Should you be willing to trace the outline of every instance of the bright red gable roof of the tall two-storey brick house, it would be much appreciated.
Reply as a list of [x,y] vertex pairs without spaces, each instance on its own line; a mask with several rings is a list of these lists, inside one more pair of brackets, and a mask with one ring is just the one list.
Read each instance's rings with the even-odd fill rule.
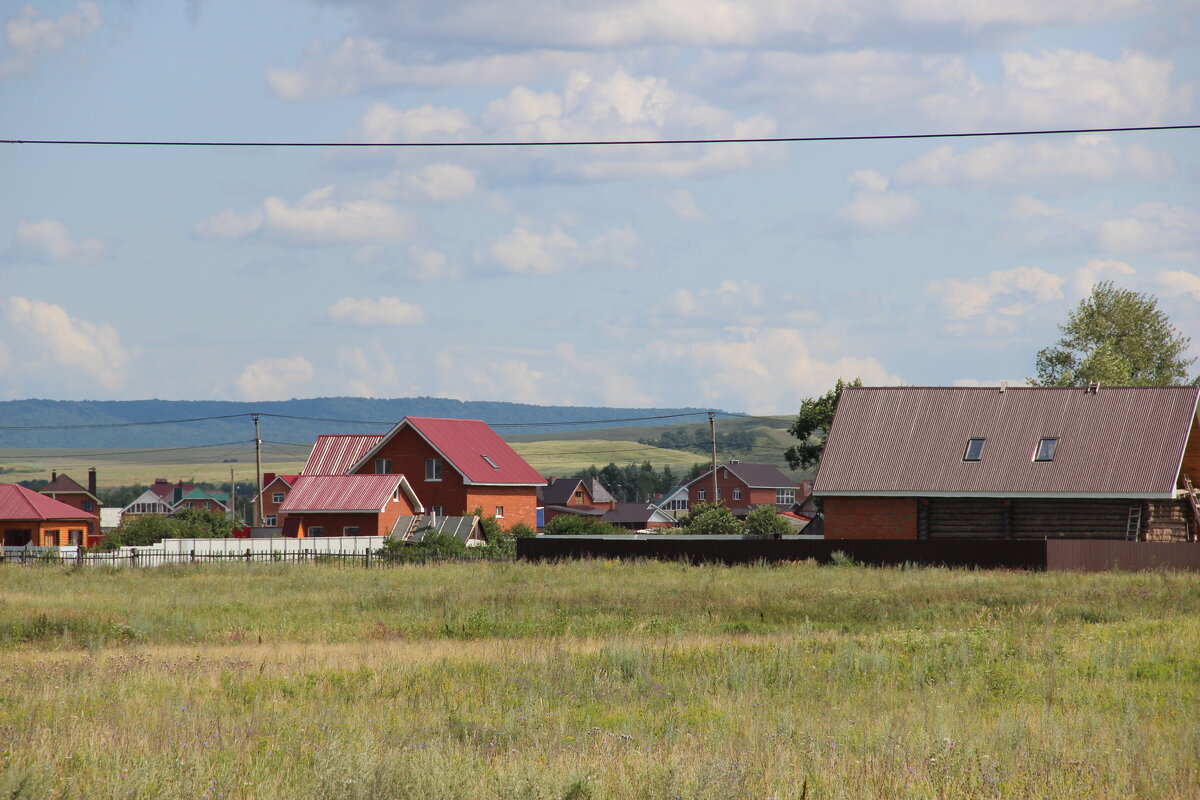
[[433,447],[455,468],[467,485],[545,486],[541,476],[517,455],[491,426],[481,420],[444,420],[432,416],[406,416],[378,444],[364,453],[347,471],[354,471],[406,427]]

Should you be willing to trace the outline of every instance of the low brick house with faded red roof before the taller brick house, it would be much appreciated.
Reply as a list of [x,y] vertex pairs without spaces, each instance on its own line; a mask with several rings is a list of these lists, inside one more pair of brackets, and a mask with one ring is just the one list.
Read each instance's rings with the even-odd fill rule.
[[301,475],[280,504],[283,535],[386,536],[425,509],[403,475]]

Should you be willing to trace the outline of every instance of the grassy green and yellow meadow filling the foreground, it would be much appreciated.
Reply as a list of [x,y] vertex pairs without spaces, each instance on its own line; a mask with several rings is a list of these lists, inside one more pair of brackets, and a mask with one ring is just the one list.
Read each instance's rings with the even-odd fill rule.
[[0,796],[1200,795],[1200,576],[0,566]]

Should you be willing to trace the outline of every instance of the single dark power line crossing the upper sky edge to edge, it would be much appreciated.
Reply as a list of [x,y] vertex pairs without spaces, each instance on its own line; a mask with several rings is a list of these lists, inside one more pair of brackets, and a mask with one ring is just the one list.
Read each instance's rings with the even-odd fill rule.
[[136,139],[0,139],[0,144],[98,145],[119,148],[594,148],[662,144],[787,144],[805,142],[886,142],[893,139],[965,139],[972,137],[1062,136],[1193,131],[1200,125],[1139,125],[1108,128],[964,131],[958,133],[872,133],[857,136],[736,137],[722,139],[572,139],[558,142],[188,142]]

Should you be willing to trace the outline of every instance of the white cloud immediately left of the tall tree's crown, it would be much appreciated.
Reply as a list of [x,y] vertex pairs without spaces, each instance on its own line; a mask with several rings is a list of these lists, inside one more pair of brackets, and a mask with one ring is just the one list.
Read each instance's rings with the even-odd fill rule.
[[[1036,266],[997,270],[980,278],[931,281],[928,294],[952,320],[982,317],[984,332],[1016,330],[1032,308],[1061,300],[1066,279]],[[978,332],[978,324],[952,324],[954,332]]]

